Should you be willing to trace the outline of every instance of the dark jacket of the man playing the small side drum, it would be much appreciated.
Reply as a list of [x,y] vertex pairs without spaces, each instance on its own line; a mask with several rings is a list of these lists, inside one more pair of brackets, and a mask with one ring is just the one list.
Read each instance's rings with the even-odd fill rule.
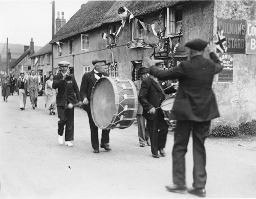
[[[159,84],[162,86],[162,82],[159,82]],[[163,86],[162,88],[164,89]],[[173,92],[176,92],[176,90],[174,88],[170,88],[165,91],[165,94],[170,94]],[[148,113],[148,111],[153,107],[160,107],[161,103],[165,99],[165,94],[163,91],[161,91],[156,81],[151,77],[147,77],[145,80],[143,80],[138,96],[139,102],[143,107],[142,116],[146,119],[153,120],[157,115],[157,111],[161,111],[161,109],[156,109],[154,114]]]

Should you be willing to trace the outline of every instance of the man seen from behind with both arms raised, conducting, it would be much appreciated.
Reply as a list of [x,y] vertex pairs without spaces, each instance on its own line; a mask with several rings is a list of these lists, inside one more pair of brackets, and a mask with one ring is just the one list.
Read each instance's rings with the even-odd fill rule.
[[[206,153],[204,141],[208,134],[211,119],[219,117],[215,94],[211,89],[214,75],[222,70],[218,57],[213,53],[212,45],[201,39],[185,44],[188,60],[177,67],[161,71],[154,62],[149,61],[150,74],[160,80],[179,80],[179,89],[171,112],[171,119],[177,120],[173,146],[173,183],[166,186],[171,192],[187,191],[185,181],[185,154],[189,134],[193,136],[193,188],[188,192],[205,197]],[[207,48],[206,48],[207,47]],[[204,49],[210,52],[210,59],[203,57]]]

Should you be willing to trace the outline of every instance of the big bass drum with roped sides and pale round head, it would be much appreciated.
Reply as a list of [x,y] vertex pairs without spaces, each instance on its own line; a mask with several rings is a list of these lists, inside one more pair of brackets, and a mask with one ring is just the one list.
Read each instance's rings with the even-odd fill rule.
[[138,110],[134,83],[126,78],[100,78],[91,94],[91,112],[101,129],[125,129],[134,122]]

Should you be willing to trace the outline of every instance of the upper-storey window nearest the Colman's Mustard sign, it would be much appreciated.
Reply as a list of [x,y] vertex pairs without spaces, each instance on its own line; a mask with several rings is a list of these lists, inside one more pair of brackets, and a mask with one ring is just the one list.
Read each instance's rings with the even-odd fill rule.
[[[183,21],[183,15],[182,15],[182,20],[180,21],[177,21],[177,12],[178,10],[183,10],[182,6],[179,6],[179,7],[176,7],[176,8],[166,8],[166,12],[165,12],[165,16],[164,16],[164,26],[166,28],[166,31],[165,31],[165,35],[168,35],[170,37],[172,36],[175,36],[177,34],[180,33],[180,28],[182,27],[182,21]],[[173,17],[174,19],[172,20],[174,22],[174,30],[172,30],[170,27],[170,12],[173,11]],[[180,27],[180,28],[179,28]],[[179,30],[178,30],[179,29]],[[182,34],[182,32],[181,32]]]

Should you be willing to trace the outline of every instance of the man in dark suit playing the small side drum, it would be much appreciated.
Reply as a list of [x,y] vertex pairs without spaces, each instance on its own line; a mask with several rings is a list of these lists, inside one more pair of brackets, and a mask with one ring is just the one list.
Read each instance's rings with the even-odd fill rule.
[[[155,60],[153,62],[159,70],[163,70],[163,60]],[[159,82],[156,77],[149,76],[142,81],[138,97],[143,107],[142,116],[147,120],[151,152],[154,158],[159,158],[158,151],[160,151],[161,156],[165,156],[163,148],[165,147],[168,133],[168,125],[164,120],[164,114],[161,109],[156,109],[161,106],[165,99],[162,85],[164,85],[164,82]],[[170,87],[165,92],[170,94],[176,92],[176,90]]]

